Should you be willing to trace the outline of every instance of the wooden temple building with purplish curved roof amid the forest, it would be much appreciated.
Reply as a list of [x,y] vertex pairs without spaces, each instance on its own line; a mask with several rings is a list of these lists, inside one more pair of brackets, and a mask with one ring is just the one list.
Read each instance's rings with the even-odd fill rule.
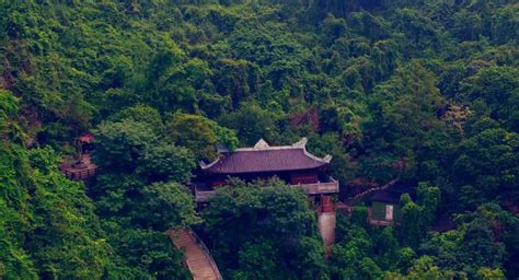
[[331,212],[332,195],[339,191],[338,182],[327,173],[332,156],[318,158],[305,147],[305,138],[280,147],[270,147],[261,139],[253,148],[224,152],[209,164],[200,163],[195,200],[198,205],[208,202],[229,177],[245,182],[278,177],[291,187],[302,188],[320,212]]

